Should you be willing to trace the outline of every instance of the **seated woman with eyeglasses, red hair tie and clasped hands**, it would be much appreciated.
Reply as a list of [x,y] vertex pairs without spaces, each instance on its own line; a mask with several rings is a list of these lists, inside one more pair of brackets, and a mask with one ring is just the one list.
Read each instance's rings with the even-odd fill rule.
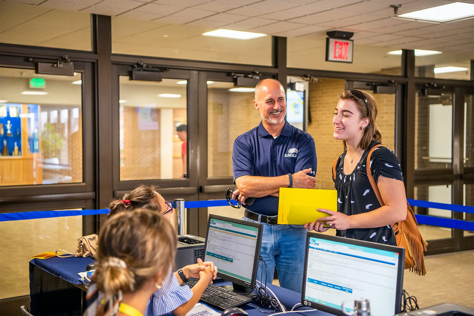
[[[121,199],[112,200],[109,206],[109,217],[135,208],[148,208],[160,213],[168,221],[171,220],[173,208],[156,189],[154,185],[140,185]],[[210,275],[206,273],[207,267],[210,267]],[[201,259],[198,259],[198,263],[187,265],[174,273],[170,270],[163,287],[156,290],[148,301],[145,315],[155,316],[170,312],[173,315],[186,314],[199,301],[208,284],[216,279],[217,271],[213,262],[202,262]],[[192,289],[188,286],[180,286],[191,277],[200,279]]]

